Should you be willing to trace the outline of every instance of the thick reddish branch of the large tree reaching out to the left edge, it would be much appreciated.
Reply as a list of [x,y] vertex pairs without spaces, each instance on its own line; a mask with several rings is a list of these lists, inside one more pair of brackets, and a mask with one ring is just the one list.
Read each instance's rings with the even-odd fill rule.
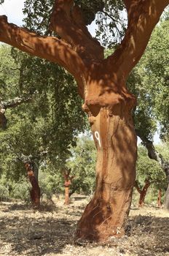
[[62,65],[68,70],[83,91],[82,60],[66,42],[56,37],[42,37],[26,29],[7,22],[6,16],[0,16],[0,41],[19,50]]

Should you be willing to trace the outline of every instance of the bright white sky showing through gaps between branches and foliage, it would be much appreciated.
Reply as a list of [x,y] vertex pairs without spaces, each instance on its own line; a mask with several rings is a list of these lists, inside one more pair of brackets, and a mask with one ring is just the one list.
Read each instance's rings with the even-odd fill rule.
[[[17,26],[22,26],[23,20],[23,4],[24,0],[5,0],[4,4],[0,5],[0,15],[6,15],[9,23],[14,23]],[[90,28],[91,34],[94,34],[95,26],[92,25]],[[138,143],[141,143],[141,140],[138,139]],[[160,138],[158,132],[154,135],[154,143],[160,143]]]

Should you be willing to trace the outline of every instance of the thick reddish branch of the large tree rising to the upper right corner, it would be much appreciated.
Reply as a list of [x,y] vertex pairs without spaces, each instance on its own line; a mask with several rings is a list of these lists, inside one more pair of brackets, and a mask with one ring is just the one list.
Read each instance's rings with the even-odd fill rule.
[[125,38],[112,56],[108,58],[111,67],[119,67],[119,75],[126,80],[146,49],[154,26],[169,0],[124,0],[128,14]]

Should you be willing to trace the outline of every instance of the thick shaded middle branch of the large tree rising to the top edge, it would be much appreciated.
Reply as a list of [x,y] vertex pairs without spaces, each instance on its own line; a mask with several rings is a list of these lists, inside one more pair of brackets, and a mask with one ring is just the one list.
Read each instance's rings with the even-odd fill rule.
[[55,1],[50,28],[70,43],[83,60],[103,59],[103,47],[91,36],[73,0]]

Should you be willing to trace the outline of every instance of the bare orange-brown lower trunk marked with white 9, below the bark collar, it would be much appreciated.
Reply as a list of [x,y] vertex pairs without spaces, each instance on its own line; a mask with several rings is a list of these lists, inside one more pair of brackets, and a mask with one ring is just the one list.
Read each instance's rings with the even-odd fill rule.
[[127,106],[101,108],[98,116],[89,119],[98,150],[96,189],[76,236],[104,241],[124,234],[135,182],[136,136]]

